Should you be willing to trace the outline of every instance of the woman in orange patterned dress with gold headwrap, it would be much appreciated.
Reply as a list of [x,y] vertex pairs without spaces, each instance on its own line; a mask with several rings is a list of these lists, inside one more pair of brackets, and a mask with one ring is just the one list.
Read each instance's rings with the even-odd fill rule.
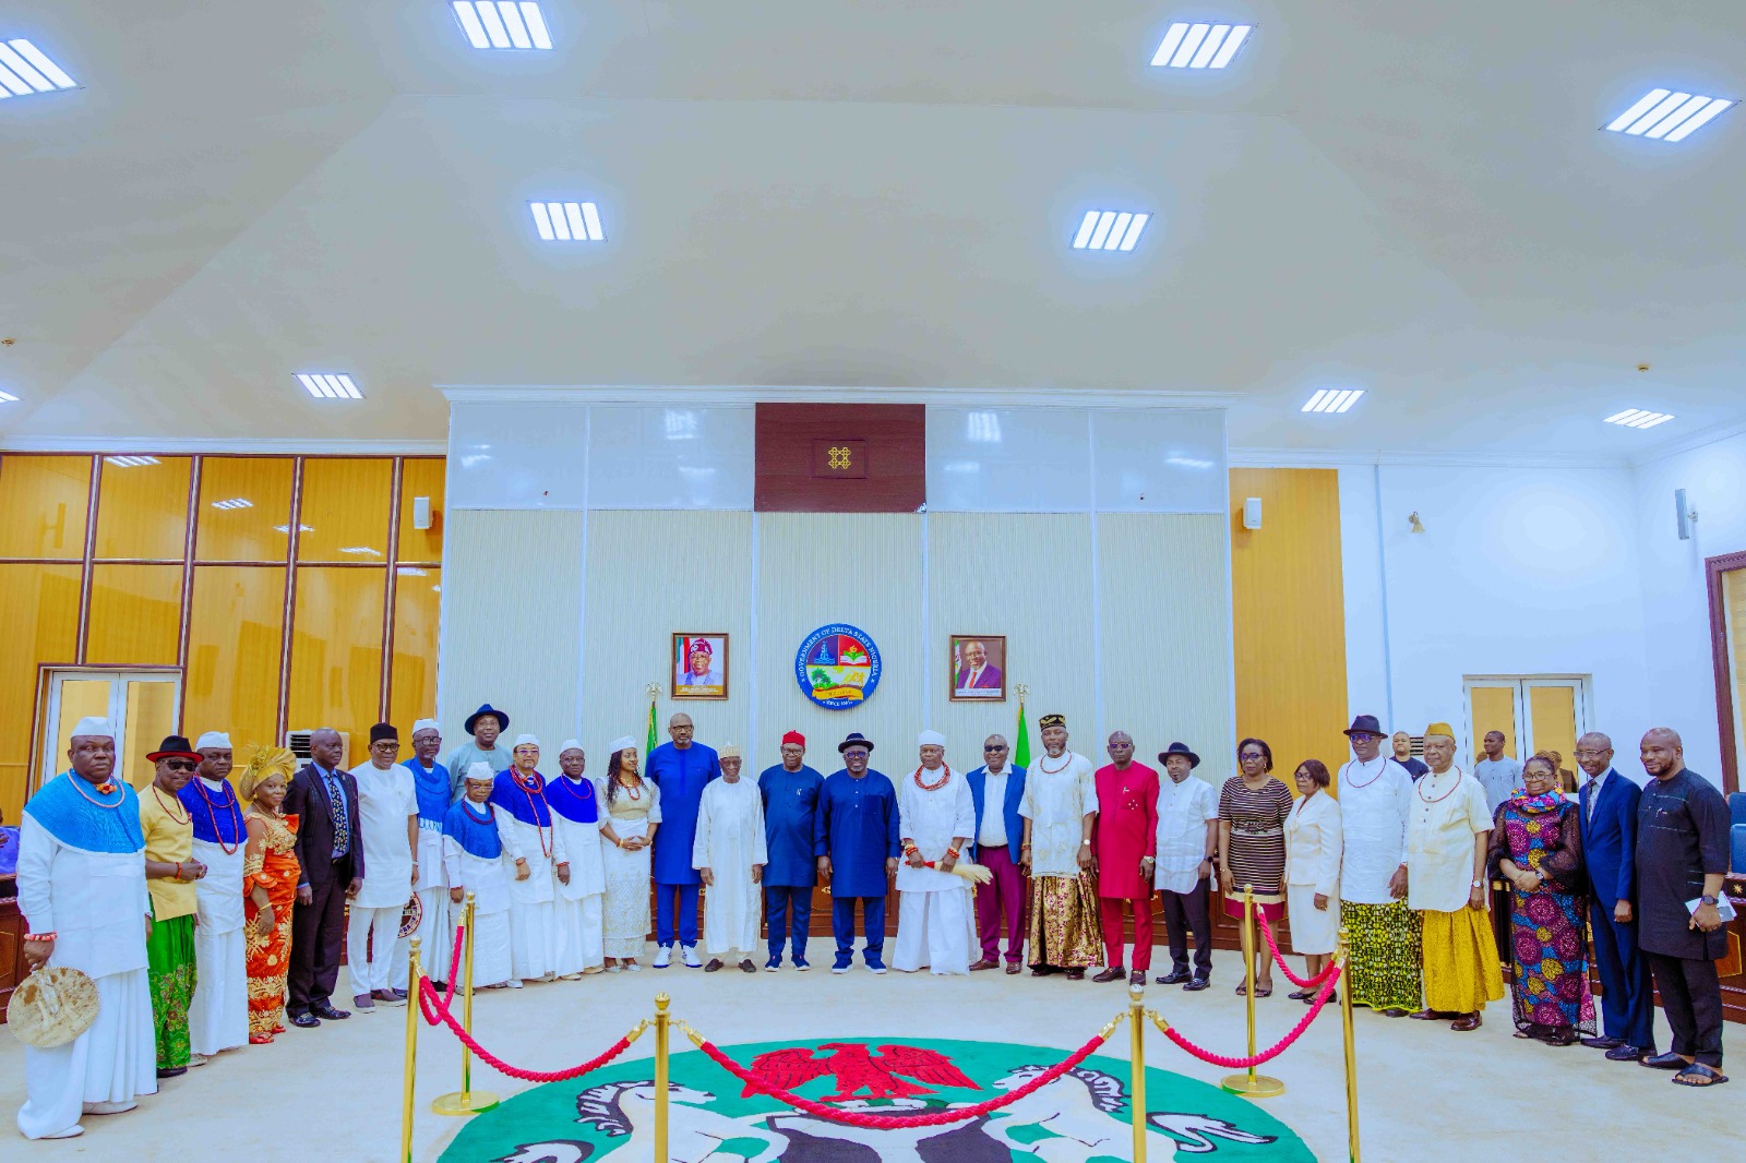
[[264,1046],[285,1032],[285,974],[292,967],[292,905],[297,901],[297,817],[281,807],[297,758],[258,747],[243,772],[243,939],[248,959],[248,1041]]

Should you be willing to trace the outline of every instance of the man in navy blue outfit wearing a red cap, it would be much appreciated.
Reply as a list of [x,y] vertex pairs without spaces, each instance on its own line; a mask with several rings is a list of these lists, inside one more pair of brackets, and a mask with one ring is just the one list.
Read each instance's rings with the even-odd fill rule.
[[[789,926],[794,936],[794,969],[805,973],[807,929],[812,926],[812,887],[819,882],[817,817],[824,775],[807,767],[807,737],[782,735],[782,761],[758,777],[765,802],[765,920],[770,926],[770,960],[765,973],[782,967]],[[789,922],[793,917],[793,922]]]

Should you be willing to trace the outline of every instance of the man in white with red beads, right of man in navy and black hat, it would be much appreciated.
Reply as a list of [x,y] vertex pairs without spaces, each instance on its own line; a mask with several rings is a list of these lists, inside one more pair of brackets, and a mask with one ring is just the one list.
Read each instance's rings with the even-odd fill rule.
[[[946,737],[917,737],[920,767],[897,781],[897,952],[892,967],[915,973],[971,971],[976,948],[976,905],[969,880],[955,877],[964,847],[976,835],[976,800],[962,774],[946,767]],[[932,868],[929,868],[932,864]]]

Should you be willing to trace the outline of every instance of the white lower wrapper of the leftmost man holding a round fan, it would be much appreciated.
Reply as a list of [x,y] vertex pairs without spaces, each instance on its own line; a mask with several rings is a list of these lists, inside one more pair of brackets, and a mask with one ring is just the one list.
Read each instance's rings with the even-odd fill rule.
[[152,985],[145,969],[96,978],[98,1020],[49,1049],[24,1048],[24,1105],[17,1128],[42,1139],[79,1126],[89,1102],[131,1102],[157,1093]]

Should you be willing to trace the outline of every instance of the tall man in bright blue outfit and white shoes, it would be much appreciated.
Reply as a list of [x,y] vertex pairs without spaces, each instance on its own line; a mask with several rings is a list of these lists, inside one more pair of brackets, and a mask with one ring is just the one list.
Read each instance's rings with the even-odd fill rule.
[[663,742],[650,753],[643,775],[660,788],[662,826],[655,833],[655,967],[672,964],[674,898],[679,899],[677,938],[679,952],[688,969],[702,969],[697,959],[697,870],[691,868],[691,845],[697,840],[697,805],[704,798],[704,784],[721,775],[721,760],[711,747],[695,742],[691,716],[679,712],[667,719]]

